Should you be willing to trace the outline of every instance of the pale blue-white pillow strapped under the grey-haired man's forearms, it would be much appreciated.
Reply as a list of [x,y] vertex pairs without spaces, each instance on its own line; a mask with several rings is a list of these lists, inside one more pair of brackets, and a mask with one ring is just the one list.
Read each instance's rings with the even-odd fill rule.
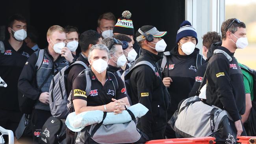
[[[141,103],[137,103],[128,107],[128,109],[134,114],[135,118],[141,118],[144,116],[148,109]],[[70,113],[67,116],[65,124],[67,127],[74,132],[81,131],[84,127],[91,124],[100,123],[103,119],[103,111],[87,111],[76,115],[75,112]],[[103,121],[104,125],[108,124],[119,124],[130,122],[132,117],[128,111],[123,111],[120,114],[107,113],[106,118]]]

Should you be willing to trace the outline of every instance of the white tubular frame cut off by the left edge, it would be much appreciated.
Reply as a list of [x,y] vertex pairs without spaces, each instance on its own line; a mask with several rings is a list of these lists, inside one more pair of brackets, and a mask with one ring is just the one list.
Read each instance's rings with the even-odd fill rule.
[[[7,84],[4,82],[4,80],[0,77],[0,87],[7,87]],[[14,137],[13,137],[13,131],[4,129],[4,127],[0,126],[0,144],[4,144],[4,138],[3,135],[8,135],[9,136],[9,144],[14,144]]]

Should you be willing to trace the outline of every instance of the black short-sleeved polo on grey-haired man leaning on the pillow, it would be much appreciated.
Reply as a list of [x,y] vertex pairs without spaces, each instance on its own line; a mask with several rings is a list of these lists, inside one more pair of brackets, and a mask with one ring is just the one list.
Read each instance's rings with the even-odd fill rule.
[[105,105],[110,102],[113,102],[111,98],[117,100],[126,97],[126,90],[124,88],[124,83],[121,78],[117,78],[118,89],[115,92],[112,81],[115,81],[112,77],[109,76],[108,72],[106,73],[106,83],[104,86],[98,81],[95,74],[92,70],[89,70],[89,75],[91,78],[91,91],[89,94],[86,94],[86,79],[85,73],[79,75],[74,80],[72,86],[72,100],[82,99],[87,101],[87,106],[99,106]]

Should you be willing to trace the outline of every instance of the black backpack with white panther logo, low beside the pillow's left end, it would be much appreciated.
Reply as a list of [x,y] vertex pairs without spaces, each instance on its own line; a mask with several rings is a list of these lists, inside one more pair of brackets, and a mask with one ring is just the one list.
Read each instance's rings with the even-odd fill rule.
[[40,144],[59,144],[66,138],[65,122],[51,116],[46,120],[39,135]]

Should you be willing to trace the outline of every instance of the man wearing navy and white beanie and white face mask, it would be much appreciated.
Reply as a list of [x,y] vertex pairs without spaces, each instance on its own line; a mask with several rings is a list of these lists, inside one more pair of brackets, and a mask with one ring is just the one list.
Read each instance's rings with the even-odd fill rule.
[[[176,46],[170,52],[164,52],[161,62],[163,84],[171,96],[172,106],[168,112],[168,120],[178,108],[181,100],[188,98],[195,83],[197,68],[204,63],[197,44],[197,32],[187,20],[180,24],[176,35]],[[168,125],[165,132],[167,138],[176,138],[173,129]]]

